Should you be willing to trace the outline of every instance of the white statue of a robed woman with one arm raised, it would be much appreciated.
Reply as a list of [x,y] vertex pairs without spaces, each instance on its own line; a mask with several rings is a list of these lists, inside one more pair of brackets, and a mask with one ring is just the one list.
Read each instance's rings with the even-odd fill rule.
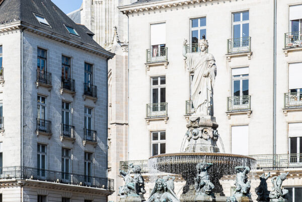
[[187,68],[190,73],[194,73],[191,95],[195,111],[192,117],[195,115],[213,116],[213,88],[217,74],[215,58],[206,52],[208,42],[204,36],[198,41],[200,52],[187,53],[187,40],[184,41],[183,45],[183,55],[186,57]]

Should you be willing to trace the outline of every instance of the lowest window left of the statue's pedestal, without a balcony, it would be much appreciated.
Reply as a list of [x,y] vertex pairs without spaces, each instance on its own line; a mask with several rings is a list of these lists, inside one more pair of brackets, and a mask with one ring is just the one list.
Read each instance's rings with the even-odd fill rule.
[[152,156],[166,153],[166,131],[151,133]]

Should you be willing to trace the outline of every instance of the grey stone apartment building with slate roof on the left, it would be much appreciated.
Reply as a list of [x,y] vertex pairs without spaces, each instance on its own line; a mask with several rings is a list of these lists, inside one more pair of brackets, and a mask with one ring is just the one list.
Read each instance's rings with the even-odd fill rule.
[[107,201],[114,54],[50,0],[2,0],[0,19],[0,198]]

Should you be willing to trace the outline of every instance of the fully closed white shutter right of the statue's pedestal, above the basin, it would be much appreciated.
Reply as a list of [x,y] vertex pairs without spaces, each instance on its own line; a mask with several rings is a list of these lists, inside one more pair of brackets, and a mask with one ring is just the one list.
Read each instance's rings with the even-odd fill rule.
[[249,155],[249,125],[232,126],[232,154]]

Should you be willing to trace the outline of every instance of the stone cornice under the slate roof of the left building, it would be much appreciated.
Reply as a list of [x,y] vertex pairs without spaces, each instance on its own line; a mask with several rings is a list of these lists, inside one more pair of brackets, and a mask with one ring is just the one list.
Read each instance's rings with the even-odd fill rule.
[[111,53],[109,51],[102,50],[100,48],[96,48],[92,45],[85,44],[83,42],[79,42],[77,40],[73,40],[73,39],[61,36],[59,34],[50,32],[48,30],[44,30],[44,29],[41,29],[39,27],[30,25],[27,23],[23,23],[21,21],[7,23],[7,24],[0,24],[0,34],[5,33],[5,32],[14,31],[14,30],[22,30],[22,29],[27,32],[33,33],[35,35],[39,35],[39,36],[45,37],[47,39],[51,39],[51,40],[63,43],[65,45],[69,45],[74,48],[84,50],[86,52],[104,57],[106,59],[111,59],[115,55],[114,53]]

